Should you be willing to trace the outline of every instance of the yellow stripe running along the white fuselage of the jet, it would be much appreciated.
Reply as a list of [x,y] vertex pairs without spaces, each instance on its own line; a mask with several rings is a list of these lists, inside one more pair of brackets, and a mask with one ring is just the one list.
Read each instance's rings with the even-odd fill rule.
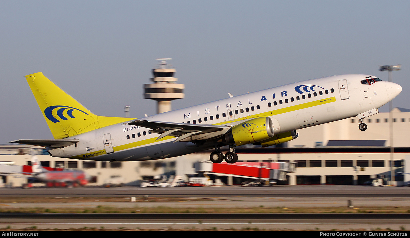
[[[240,117],[240,118],[232,120],[232,121],[223,121],[223,122],[220,122],[220,123],[217,123],[217,124],[214,124],[214,125],[228,124],[229,122],[242,121],[242,120],[257,118],[257,117],[270,117],[270,116],[273,116],[273,115],[278,115],[278,114],[282,114],[282,113],[286,113],[286,112],[293,112],[293,111],[301,110],[301,109],[305,109],[305,108],[311,108],[311,107],[326,104],[326,103],[333,103],[335,101],[336,101],[335,97],[324,98],[324,99],[320,99],[320,100],[316,100],[316,101],[312,101],[312,102],[308,102],[308,103],[301,103],[301,104],[298,104],[298,105],[289,106],[289,107],[286,107],[286,108],[280,108],[280,109],[277,109],[277,110],[262,112],[262,113],[255,114],[255,115],[248,116],[248,117]],[[146,139],[146,140],[139,140],[139,141],[136,141],[136,142],[123,144],[123,145],[119,145],[119,146],[114,146],[113,147],[114,152],[115,151],[122,151],[122,150],[125,150],[125,149],[130,149],[130,148],[137,147],[137,146],[152,144],[154,142],[160,142],[160,141],[163,141],[163,140],[169,140],[169,139],[175,138],[175,137],[166,136],[166,137],[164,137],[160,140],[156,140],[156,138],[157,137]],[[105,151],[105,150],[103,150],[103,151]],[[99,151],[97,151],[97,152],[99,152]],[[89,156],[90,154],[92,154],[92,153],[85,153],[85,154],[82,154],[82,155],[79,155],[79,156],[72,156],[70,158],[72,158],[72,159],[84,159],[84,156],[87,156],[87,158],[90,158],[90,157],[93,157],[93,156],[101,155],[101,154],[95,154],[95,155]]]

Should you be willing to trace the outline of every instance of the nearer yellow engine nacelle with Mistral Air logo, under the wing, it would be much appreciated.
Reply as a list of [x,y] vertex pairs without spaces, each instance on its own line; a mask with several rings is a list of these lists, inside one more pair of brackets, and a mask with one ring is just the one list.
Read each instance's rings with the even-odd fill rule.
[[227,144],[244,145],[268,140],[274,134],[272,120],[269,117],[259,117],[232,127],[224,139]]

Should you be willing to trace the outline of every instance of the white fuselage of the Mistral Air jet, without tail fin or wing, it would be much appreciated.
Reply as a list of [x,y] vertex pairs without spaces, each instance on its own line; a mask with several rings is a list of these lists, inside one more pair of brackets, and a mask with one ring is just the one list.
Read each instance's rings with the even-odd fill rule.
[[[156,114],[149,121],[236,125],[248,119],[270,117],[275,134],[355,117],[380,108],[401,92],[392,82],[361,83],[369,75],[339,75],[296,82],[219,101]],[[155,160],[212,149],[216,141],[175,142],[176,137],[148,128],[116,124],[66,139],[77,144],[47,148],[52,156],[102,161]],[[113,151],[113,152],[112,152]]]

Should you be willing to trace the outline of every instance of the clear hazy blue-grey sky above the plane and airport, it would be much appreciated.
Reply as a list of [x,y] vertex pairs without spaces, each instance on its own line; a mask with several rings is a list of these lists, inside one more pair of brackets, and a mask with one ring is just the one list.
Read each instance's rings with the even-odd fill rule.
[[[401,64],[410,108],[410,1],[0,1],[0,143],[52,139],[24,76],[43,72],[98,115],[155,114],[156,58],[185,84],[173,109]],[[385,106],[382,110],[387,111]]]

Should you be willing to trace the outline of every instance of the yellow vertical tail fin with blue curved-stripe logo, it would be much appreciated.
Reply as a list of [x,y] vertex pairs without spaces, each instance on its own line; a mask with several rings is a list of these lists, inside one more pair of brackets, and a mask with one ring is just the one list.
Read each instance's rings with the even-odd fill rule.
[[56,140],[130,120],[126,117],[101,117],[93,114],[43,73],[25,77]]

